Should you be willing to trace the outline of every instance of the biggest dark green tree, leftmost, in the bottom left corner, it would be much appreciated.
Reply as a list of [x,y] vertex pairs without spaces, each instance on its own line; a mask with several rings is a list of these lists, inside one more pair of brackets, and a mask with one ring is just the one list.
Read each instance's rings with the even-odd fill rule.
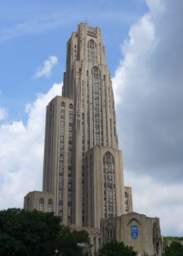
[[8,209],[0,211],[1,255],[51,255],[60,234],[61,219],[54,212]]

